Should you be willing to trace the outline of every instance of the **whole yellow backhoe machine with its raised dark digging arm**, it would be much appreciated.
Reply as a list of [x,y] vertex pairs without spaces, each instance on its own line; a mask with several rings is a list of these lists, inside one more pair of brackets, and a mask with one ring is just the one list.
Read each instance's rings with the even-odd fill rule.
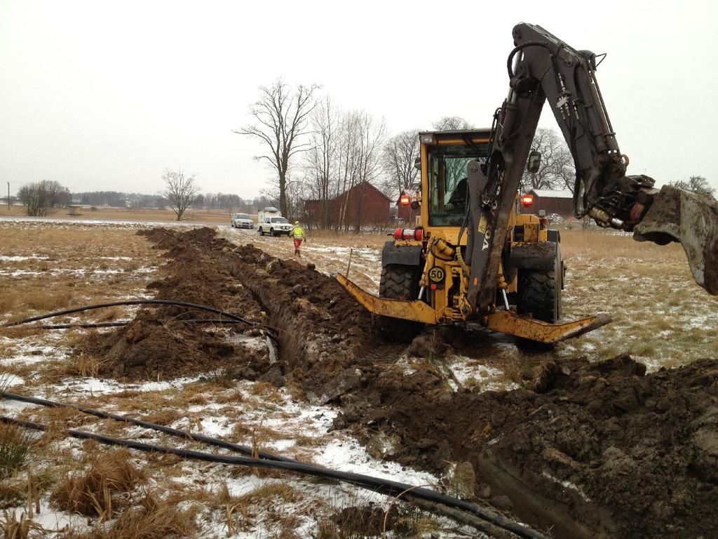
[[419,324],[477,321],[551,345],[591,331],[607,316],[559,321],[564,263],[559,231],[544,216],[519,213],[523,170],[548,101],[576,166],[573,209],[638,241],[679,241],[696,282],[718,294],[718,203],[710,195],[653,187],[626,175],[596,80],[596,55],[574,50],[545,29],[521,23],[508,56],[509,93],[490,129],[419,134],[421,189],[401,203],[420,210],[383,248],[379,296],[337,280],[397,336]]

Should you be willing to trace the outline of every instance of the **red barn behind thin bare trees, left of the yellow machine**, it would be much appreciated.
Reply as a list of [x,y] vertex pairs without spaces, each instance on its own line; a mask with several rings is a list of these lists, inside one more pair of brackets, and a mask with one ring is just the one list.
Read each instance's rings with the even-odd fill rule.
[[[330,199],[327,204],[328,226],[350,226],[360,229],[367,225],[387,224],[391,199],[368,182],[362,182]],[[322,201],[304,201],[309,224],[321,226]]]

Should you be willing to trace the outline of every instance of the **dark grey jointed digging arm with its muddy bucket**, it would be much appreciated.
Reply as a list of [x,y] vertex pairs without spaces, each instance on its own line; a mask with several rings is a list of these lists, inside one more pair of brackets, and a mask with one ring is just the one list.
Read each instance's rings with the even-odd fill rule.
[[[467,170],[467,300],[475,313],[488,312],[495,303],[508,218],[546,101],[574,158],[575,216],[636,231],[640,241],[680,241],[696,282],[718,294],[714,199],[675,189],[659,193],[652,178],[626,175],[628,157],[618,147],[596,80],[593,52],[575,50],[533,24],[516,25],[513,40],[507,63],[510,90],[494,116],[488,159],[471,162]],[[670,208],[679,213],[672,215]]]

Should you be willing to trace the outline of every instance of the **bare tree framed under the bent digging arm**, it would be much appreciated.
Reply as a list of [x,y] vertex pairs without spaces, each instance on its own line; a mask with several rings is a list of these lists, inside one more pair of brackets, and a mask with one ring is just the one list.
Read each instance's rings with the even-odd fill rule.
[[533,135],[531,149],[541,152],[541,165],[538,172],[523,172],[521,189],[569,188],[573,191],[574,160],[563,137],[553,129],[541,127]]

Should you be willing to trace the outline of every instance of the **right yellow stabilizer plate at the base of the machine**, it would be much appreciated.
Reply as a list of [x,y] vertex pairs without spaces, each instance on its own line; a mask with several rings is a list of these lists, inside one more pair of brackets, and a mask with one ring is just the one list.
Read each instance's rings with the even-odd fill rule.
[[493,331],[549,344],[583,335],[605,326],[610,321],[610,316],[598,315],[571,322],[550,324],[536,320],[536,318],[518,315],[513,310],[500,310],[486,315],[484,325]]

